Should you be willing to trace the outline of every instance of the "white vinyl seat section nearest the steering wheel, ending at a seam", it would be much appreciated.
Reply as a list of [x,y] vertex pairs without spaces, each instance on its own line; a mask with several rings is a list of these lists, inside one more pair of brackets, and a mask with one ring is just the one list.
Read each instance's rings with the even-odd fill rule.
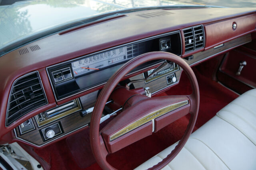
[[[158,162],[162,161],[177,145],[174,144],[160,152],[144,164],[138,166],[136,170],[146,170]],[[206,163],[207,162],[207,163]],[[154,164],[153,164],[154,163]],[[208,148],[204,143],[197,139],[188,139],[185,147],[172,160],[164,170],[205,170],[205,169],[222,169],[228,170],[228,167]]]

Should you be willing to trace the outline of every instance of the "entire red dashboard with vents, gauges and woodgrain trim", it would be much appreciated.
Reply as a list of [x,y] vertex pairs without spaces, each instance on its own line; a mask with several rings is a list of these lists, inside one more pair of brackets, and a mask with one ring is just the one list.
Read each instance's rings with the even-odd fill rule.
[[[252,41],[255,31],[255,9],[154,9],[33,41],[0,57],[0,81],[5,82],[0,87],[0,143],[42,148],[89,128],[104,84],[138,55],[165,51],[194,66]],[[123,80],[142,80],[162,62],[144,63]],[[181,74],[180,66],[169,63],[132,88],[154,96],[178,86]],[[102,120],[110,112],[103,113]]]

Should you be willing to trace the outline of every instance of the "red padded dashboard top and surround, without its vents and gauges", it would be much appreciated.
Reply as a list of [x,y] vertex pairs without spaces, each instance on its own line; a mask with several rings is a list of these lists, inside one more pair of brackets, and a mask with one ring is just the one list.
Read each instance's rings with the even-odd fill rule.
[[[42,111],[56,106],[52,88],[48,76],[46,75],[46,67],[48,66],[117,45],[199,24],[209,24],[205,26],[206,49],[255,30],[256,14],[254,14],[255,9],[253,8],[239,8],[236,10],[230,8],[200,8],[176,9],[170,11],[172,12],[170,15],[147,19],[137,16],[137,14],[143,13],[143,11],[129,13],[125,17],[115,18],[114,20],[97,23],[70,32],[64,32],[61,35],[54,34],[39,39],[38,41],[34,41],[0,57],[0,141],[9,142],[8,140],[12,137],[12,130],[20,123]],[[235,31],[232,30],[232,22],[234,21],[236,21],[238,25]],[[243,26],[240,27],[240,25]],[[122,31],[116,31],[117,29]],[[226,33],[224,33],[225,31]],[[22,48],[29,49],[31,45],[40,46],[40,50],[20,55],[18,50]],[[12,66],[13,61],[15,61],[15,66]],[[35,70],[40,72],[49,104],[28,113],[9,127],[5,127],[6,107],[12,83],[16,78]],[[90,92],[83,92],[79,94],[79,96],[62,100],[58,102],[58,104]]]

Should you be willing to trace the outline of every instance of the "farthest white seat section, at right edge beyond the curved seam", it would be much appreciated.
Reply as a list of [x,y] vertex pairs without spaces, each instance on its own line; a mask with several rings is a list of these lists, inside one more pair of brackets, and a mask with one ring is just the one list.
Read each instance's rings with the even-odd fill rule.
[[245,92],[217,115],[232,124],[256,145],[256,89]]

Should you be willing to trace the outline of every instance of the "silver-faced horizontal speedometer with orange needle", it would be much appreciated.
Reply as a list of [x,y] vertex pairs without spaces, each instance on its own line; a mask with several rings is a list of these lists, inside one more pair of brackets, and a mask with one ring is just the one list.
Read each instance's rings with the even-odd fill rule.
[[113,64],[122,63],[123,61],[126,61],[128,57],[127,47],[120,47],[74,61],[71,63],[72,70],[74,72],[74,76],[76,77],[82,74],[101,70]]

